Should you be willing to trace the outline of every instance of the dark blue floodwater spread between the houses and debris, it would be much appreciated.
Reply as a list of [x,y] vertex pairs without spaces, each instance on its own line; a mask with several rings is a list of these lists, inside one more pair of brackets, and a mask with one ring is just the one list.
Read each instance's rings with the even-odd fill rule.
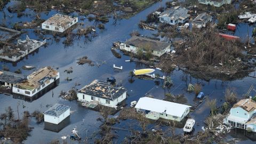
[[[49,106],[54,105],[55,103],[60,103],[63,105],[68,105],[71,107],[71,115],[70,115],[70,124],[67,125],[60,132],[51,132],[44,130],[44,124],[36,124],[34,118],[31,118],[30,125],[34,127],[33,131],[30,132],[30,136],[25,140],[25,143],[47,143],[53,139],[61,140],[60,137],[70,135],[73,127],[77,127],[78,131],[81,134],[82,139],[84,140],[86,137],[89,137],[89,141],[93,142],[95,133],[99,131],[99,126],[101,122],[97,121],[97,118],[101,117],[97,111],[89,110],[81,106],[81,103],[77,101],[67,101],[60,99],[58,97],[61,90],[69,90],[76,83],[81,85],[76,86],[77,89],[81,89],[84,85],[91,83],[94,79],[100,79],[105,81],[109,76],[115,76],[117,79],[117,83],[122,84],[126,89],[129,97],[126,100],[127,106],[130,105],[131,101],[138,101],[140,97],[143,97],[145,93],[151,93],[155,98],[163,99],[165,93],[173,93],[173,94],[184,94],[187,99],[188,105],[195,105],[198,101],[195,99],[195,94],[187,93],[187,85],[189,83],[195,84],[200,83],[203,85],[202,91],[205,92],[209,99],[217,99],[218,106],[221,106],[225,99],[223,98],[223,94],[227,87],[234,87],[238,95],[242,97],[243,93],[246,93],[249,89],[250,85],[255,84],[255,79],[253,77],[245,77],[242,79],[238,79],[236,81],[226,81],[222,82],[219,80],[212,79],[210,82],[205,82],[201,79],[190,77],[189,74],[183,73],[183,71],[176,69],[171,74],[169,74],[173,81],[173,86],[170,89],[163,89],[162,82],[155,83],[154,81],[143,80],[134,78],[134,82],[129,82],[129,72],[133,69],[147,68],[145,65],[141,65],[140,63],[134,62],[125,62],[125,60],[129,60],[130,57],[126,55],[122,55],[121,59],[117,59],[110,51],[110,47],[112,43],[115,41],[126,41],[126,39],[130,38],[130,33],[133,30],[138,30],[142,35],[151,36],[156,33],[156,31],[149,30],[140,30],[138,28],[138,22],[146,18],[149,12],[153,12],[157,10],[160,6],[165,5],[166,1],[158,2],[148,9],[138,13],[134,17],[129,20],[123,19],[118,20],[117,25],[114,26],[113,19],[110,19],[108,23],[106,23],[104,30],[97,30],[97,37],[90,38],[91,41],[84,37],[76,37],[73,45],[65,46],[62,42],[65,38],[60,38],[59,42],[55,42],[53,40],[52,35],[44,35],[47,39],[46,47],[40,47],[38,52],[30,54],[27,59],[23,59],[18,62],[17,65],[12,65],[12,63],[2,62],[1,68],[3,65],[9,67],[10,71],[15,71],[17,69],[21,69],[24,65],[35,66],[37,69],[45,66],[51,66],[53,68],[58,68],[60,72],[60,84],[55,87],[52,91],[44,94],[41,98],[33,101],[26,102],[19,99],[13,99],[12,96],[7,96],[4,94],[0,94],[1,105],[0,105],[0,113],[5,111],[5,108],[11,106],[14,110],[14,113],[17,114],[17,105],[20,102],[19,111],[30,111],[32,113],[34,110],[39,110],[44,112],[49,108]],[[13,2],[9,3],[6,7],[11,5]],[[19,21],[31,21],[33,20],[34,12],[27,9],[25,13],[31,14],[31,16],[22,16],[21,18],[17,18],[16,13],[9,13],[4,9],[4,13],[0,12],[0,19],[2,23],[5,23],[8,27],[12,27],[13,23]],[[58,11],[50,11],[47,13],[41,13],[41,18],[47,19],[50,18],[51,15],[57,13]],[[77,15],[73,13],[73,15]],[[82,17],[79,17],[79,22],[84,22],[85,26],[94,25],[93,21],[88,21],[87,19],[81,20]],[[33,33],[33,29],[24,29],[23,31],[27,31],[26,34],[21,35],[21,39],[25,39],[26,35],[28,35],[31,39],[39,39],[43,41],[42,38],[39,38],[38,35]],[[247,31],[246,31],[247,33]],[[89,59],[93,60],[94,63],[100,63],[101,66],[88,66],[88,65],[77,65],[76,60],[80,57],[87,56]],[[101,61],[106,61],[106,64],[101,63]],[[116,66],[123,66],[123,70],[115,70],[113,69],[113,64]],[[63,71],[69,67],[73,67],[73,73],[67,74]],[[22,70],[22,74],[30,74],[33,70]],[[161,71],[156,70],[156,73],[160,75],[163,74]],[[254,75],[254,72],[250,74]],[[66,81],[66,77],[72,78],[72,81]],[[53,96],[52,96],[53,93]],[[118,113],[117,113],[118,115]],[[195,118],[197,125],[195,126],[195,133],[198,131],[202,131],[201,127],[204,126],[204,119],[209,115],[209,108],[206,106],[205,102],[203,102],[199,107],[192,113],[190,116]],[[128,129],[132,127],[133,129],[139,130],[140,127],[138,123],[132,119],[127,119],[126,121],[121,121],[120,123],[114,125],[116,127],[122,127],[124,129]],[[168,127],[154,127],[154,124],[150,124],[148,126],[150,129],[163,129],[166,130]],[[117,131],[116,131],[117,132]],[[175,133],[182,133],[182,129],[175,129]],[[116,143],[120,143],[128,134],[127,131],[118,131],[118,138],[115,139]],[[242,136],[241,136],[242,135]],[[236,134],[230,134],[229,138],[236,138]],[[243,133],[239,135],[239,138],[242,137],[241,143],[253,143],[252,140],[245,137]],[[76,141],[77,142],[77,141]],[[68,143],[76,143],[74,141],[69,141]],[[238,142],[239,143],[239,142]]]

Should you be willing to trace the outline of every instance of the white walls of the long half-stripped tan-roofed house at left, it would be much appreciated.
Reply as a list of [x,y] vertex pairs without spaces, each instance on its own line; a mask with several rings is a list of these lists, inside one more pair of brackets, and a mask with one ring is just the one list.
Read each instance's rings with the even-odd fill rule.
[[[12,92],[13,93],[17,93],[17,94],[21,94],[21,95],[25,95],[28,97],[33,97],[35,94],[37,94],[38,92],[42,91],[45,87],[47,87],[48,85],[54,83],[55,81],[57,81],[57,79],[60,78],[60,73],[58,72],[57,77],[50,79],[49,83],[44,83],[45,85],[41,85],[40,87],[33,89],[33,90],[24,90],[24,89],[19,89],[16,86],[12,87]],[[27,94],[25,92],[29,92],[30,94]]]

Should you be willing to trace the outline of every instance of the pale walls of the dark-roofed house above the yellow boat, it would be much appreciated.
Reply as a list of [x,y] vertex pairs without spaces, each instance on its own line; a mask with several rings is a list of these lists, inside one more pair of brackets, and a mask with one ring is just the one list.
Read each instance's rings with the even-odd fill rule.
[[[137,49],[138,49],[138,47],[135,47],[135,46],[132,46],[132,45],[129,45],[129,47],[127,47],[126,44],[122,43],[122,44],[120,45],[120,49],[137,54]],[[161,57],[164,53],[170,52],[170,51],[171,51],[171,45],[167,46],[167,47],[166,47],[164,50],[162,50],[162,51],[155,51],[155,50],[153,50],[153,53],[152,53],[152,54],[153,54],[154,56],[156,56],[156,57]],[[143,53],[146,53],[146,51],[143,51]]]

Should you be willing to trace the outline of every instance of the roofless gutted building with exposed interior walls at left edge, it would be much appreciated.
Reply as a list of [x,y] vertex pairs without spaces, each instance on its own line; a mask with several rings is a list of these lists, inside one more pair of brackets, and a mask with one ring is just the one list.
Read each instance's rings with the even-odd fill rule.
[[46,43],[46,39],[43,42],[29,39],[27,36],[25,41],[18,39],[17,45],[3,45],[0,49],[0,59],[16,62],[24,58],[29,53],[37,50],[39,47]]

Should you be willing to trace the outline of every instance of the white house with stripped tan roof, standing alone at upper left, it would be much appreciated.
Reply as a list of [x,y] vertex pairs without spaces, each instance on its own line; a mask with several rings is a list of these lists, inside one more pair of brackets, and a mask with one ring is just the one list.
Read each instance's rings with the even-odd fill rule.
[[42,29],[63,33],[77,22],[77,17],[57,13],[42,23]]

